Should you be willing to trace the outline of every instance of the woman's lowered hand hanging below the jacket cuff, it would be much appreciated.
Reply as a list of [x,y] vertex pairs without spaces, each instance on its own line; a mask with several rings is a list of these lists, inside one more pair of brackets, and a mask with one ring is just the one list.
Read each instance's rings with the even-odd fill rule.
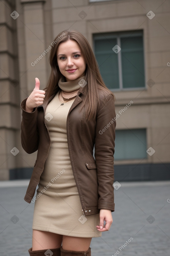
[[[100,209],[100,224],[97,227],[98,231],[108,231],[112,225],[113,218],[111,210]],[[106,221],[106,225],[104,226],[104,220]]]

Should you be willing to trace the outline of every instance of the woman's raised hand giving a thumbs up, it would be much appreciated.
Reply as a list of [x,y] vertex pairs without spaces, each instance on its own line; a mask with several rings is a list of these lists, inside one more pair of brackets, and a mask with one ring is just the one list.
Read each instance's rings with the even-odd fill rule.
[[27,112],[32,112],[35,107],[38,107],[41,104],[43,104],[45,93],[45,91],[40,90],[40,80],[36,77],[35,88],[26,100],[25,110]]

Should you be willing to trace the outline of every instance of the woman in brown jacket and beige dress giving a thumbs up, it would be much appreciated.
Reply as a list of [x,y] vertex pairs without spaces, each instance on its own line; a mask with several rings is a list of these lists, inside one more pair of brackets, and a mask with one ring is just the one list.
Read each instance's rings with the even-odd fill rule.
[[23,149],[38,150],[24,198],[35,202],[29,253],[89,256],[92,237],[113,221],[114,95],[80,32],[63,31],[53,42],[47,87],[35,78],[21,103]]

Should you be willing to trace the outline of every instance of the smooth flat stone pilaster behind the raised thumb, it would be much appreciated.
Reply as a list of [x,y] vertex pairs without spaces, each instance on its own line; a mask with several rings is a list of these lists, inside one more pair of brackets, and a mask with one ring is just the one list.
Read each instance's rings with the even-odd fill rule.
[[[35,77],[38,77],[40,80],[40,89],[43,90],[47,85],[46,66],[48,58],[42,55],[47,48],[44,28],[44,4],[46,1],[17,1],[18,11],[21,16],[17,23],[21,102],[33,91],[35,87]],[[20,133],[18,134],[18,141],[20,142],[18,145],[20,154],[18,154],[15,179],[30,178],[37,152],[30,155],[25,153],[21,146]]]

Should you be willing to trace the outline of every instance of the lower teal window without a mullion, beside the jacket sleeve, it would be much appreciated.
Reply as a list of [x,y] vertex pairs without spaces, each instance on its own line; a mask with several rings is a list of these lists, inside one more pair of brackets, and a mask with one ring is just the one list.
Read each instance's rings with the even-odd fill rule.
[[146,150],[146,129],[116,130],[115,160],[147,158]]

